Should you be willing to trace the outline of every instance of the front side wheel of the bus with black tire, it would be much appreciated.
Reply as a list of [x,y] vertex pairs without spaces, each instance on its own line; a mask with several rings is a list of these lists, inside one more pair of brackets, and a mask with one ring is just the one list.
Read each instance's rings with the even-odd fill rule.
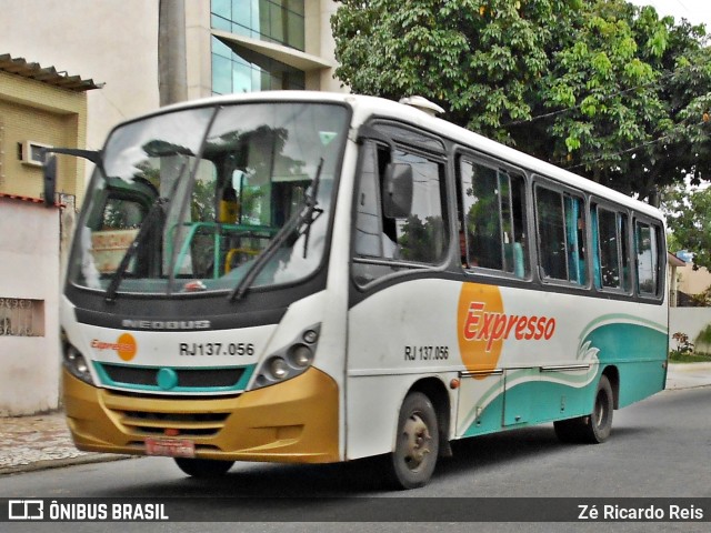
[[430,481],[439,443],[432,402],[421,392],[408,394],[400,408],[395,449],[389,457],[391,479],[397,487],[417,489]]

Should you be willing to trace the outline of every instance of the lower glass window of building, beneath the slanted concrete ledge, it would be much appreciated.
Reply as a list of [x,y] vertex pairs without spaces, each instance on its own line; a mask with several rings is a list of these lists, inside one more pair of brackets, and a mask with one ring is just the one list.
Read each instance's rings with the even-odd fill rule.
[[288,64],[212,38],[212,92],[303,90],[306,74]]

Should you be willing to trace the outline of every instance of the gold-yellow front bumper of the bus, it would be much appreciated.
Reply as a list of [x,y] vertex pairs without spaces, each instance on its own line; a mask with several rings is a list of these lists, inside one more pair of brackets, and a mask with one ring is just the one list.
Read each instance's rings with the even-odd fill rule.
[[146,439],[189,440],[196,456],[231,461],[340,461],[338,385],[309,369],[228,399],[161,399],[97,389],[62,373],[68,425],[79,450],[144,454]]

